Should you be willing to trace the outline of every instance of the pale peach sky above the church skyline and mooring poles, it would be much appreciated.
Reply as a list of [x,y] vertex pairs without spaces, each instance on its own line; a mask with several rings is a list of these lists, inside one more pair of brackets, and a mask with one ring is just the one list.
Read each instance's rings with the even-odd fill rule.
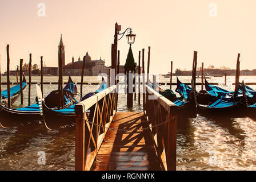
[[[150,73],[170,72],[170,61],[174,71],[191,69],[194,51],[198,67],[203,61],[205,68],[235,68],[241,53],[241,69],[255,69],[255,7],[255,0],[1,0],[1,71],[6,71],[7,44],[11,69],[20,59],[29,63],[29,53],[32,64],[39,65],[43,56],[47,66],[57,67],[61,34],[66,64],[88,51],[92,60],[101,57],[109,66],[115,22],[137,34],[132,46],[137,64],[142,48],[147,63],[151,47]],[[123,65],[129,50],[125,37],[118,49]]]

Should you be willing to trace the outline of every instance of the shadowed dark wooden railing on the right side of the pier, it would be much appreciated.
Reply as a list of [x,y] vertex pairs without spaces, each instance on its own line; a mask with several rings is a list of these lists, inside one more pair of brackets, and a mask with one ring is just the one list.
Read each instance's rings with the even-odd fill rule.
[[146,86],[143,110],[163,170],[176,170],[177,105]]

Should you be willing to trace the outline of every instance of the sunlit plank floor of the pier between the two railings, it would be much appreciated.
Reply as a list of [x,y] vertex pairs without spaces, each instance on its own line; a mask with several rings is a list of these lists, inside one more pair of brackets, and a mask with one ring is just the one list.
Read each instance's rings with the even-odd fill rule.
[[144,113],[116,113],[91,170],[161,170]]

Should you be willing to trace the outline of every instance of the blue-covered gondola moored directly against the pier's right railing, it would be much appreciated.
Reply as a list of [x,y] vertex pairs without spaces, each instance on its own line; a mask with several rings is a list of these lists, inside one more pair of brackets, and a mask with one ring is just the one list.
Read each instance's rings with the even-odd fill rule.
[[194,90],[192,88],[189,85],[183,84],[177,77],[177,88],[175,89],[175,92],[180,94],[180,98],[175,97],[173,91],[170,89],[159,89],[159,94],[178,106],[178,118],[194,118],[196,117],[196,105]]

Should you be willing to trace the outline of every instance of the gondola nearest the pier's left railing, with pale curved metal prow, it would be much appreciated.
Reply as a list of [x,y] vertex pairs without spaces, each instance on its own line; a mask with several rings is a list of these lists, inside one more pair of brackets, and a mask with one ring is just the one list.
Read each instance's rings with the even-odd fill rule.
[[[91,96],[94,96],[95,94],[101,92],[102,90],[105,90],[106,88],[107,88],[107,84],[105,83],[105,81],[103,81],[101,86],[99,86],[99,88],[95,92],[87,93],[85,96],[81,98],[80,101],[76,101],[75,104],[61,110],[57,110],[57,109],[53,110],[47,107],[45,100],[42,100],[42,113],[47,123],[47,126],[49,126],[50,128],[54,128],[55,126],[59,126],[60,124],[65,125],[69,123],[74,123],[75,122],[74,121],[75,105],[78,104],[79,102],[86,100]],[[38,88],[38,92],[41,92],[40,88]],[[90,110],[87,110],[86,114],[88,115],[89,113],[90,113]]]

